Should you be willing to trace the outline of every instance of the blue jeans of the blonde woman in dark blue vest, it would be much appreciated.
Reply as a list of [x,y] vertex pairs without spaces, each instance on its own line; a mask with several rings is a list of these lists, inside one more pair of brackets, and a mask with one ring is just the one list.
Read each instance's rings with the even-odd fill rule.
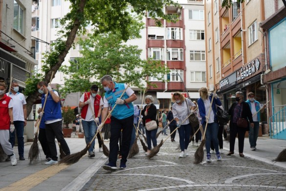
[[[203,130],[205,130],[206,122],[202,124]],[[208,123],[207,130],[205,132],[205,149],[207,154],[211,150],[211,141],[214,143],[216,152],[219,152],[219,140],[218,140],[219,124],[217,122]]]

